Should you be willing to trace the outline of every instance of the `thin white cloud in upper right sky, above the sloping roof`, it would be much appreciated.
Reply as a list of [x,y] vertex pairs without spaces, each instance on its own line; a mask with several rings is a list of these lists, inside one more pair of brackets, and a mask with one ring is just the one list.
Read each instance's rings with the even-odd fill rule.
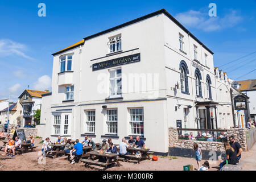
[[179,13],[175,18],[186,27],[197,28],[205,32],[232,28],[241,22],[242,16],[237,11],[229,10],[224,16],[210,17],[208,12],[189,10]]

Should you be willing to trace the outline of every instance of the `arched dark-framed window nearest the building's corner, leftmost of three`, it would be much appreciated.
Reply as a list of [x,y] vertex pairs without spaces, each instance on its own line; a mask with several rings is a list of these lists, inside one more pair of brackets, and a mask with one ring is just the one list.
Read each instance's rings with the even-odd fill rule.
[[180,89],[181,93],[189,94],[188,92],[188,66],[185,61],[180,61]]

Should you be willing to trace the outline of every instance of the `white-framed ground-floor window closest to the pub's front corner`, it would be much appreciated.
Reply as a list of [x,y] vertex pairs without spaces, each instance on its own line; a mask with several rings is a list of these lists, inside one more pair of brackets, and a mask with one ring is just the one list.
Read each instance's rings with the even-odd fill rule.
[[[135,114],[132,114],[132,110],[135,110]],[[136,110],[138,110],[138,114],[136,113]],[[142,110],[142,114],[140,114],[140,111]],[[134,117],[135,119],[139,118],[138,121],[133,121],[133,119],[131,119],[132,117]],[[142,120],[140,120],[140,117],[142,117]],[[134,123],[139,123],[139,127],[135,126],[134,127]],[[141,125],[142,123],[142,125]],[[137,135],[137,136],[144,136],[144,108],[143,107],[131,107],[129,108],[129,135]],[[142,127],[141,127],[142,126]],[[134,129],[136,130],[136,132],[134,133]],[[139,129],[139,132],[137,132]]]

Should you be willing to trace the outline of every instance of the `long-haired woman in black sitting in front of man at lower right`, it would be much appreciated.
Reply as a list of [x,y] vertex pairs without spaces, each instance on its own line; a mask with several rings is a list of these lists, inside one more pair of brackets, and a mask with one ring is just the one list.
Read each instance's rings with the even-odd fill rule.
[[[229,142],[224,142],[223,144],[226,151],[226,160],[228,160],[228,164],[237,164],[239,162],[237,159],[237,152],[232,146],[230,146]],[[226,160],[220,163],[220,169],[226,164]]]

